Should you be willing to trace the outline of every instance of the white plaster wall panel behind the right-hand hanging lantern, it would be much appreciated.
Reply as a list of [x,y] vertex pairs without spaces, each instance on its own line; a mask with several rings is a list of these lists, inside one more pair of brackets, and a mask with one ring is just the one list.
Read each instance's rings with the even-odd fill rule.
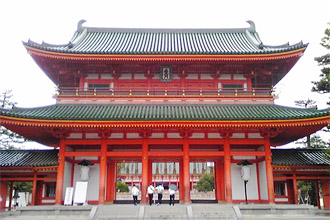
[[[244,181],[241,178],[241,167],[231,164],[231,181],[233,200],[245,200]],[[258,181],[256,164],[251,165],[251,178],[246,184],[248,200],[258,199]]]

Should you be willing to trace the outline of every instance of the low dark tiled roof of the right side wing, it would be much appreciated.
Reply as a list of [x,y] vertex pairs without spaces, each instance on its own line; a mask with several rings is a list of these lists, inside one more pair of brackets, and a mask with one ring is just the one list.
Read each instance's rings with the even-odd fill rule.
[[[321,149],[272,150],[273,165],[278,166],[330,166],[330,157]],[[330,167],[329,167],[330,168]]]

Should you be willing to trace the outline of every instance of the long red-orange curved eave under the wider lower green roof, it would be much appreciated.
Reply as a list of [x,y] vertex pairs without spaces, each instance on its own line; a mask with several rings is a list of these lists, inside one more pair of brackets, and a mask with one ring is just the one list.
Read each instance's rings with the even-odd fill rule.
[[44,128],[287,128],[330,124],[330,116],[280,120],[49,120],[1,116],[2,125]]

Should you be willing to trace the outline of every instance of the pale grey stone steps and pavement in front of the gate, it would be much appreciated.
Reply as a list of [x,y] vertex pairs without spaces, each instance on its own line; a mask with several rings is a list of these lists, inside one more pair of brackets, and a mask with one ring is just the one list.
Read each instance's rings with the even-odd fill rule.
[[330,212],[303,205],[245,204],[115,204],[99,206],[30,206],[1,212],[1,220],[161,220],[266,219],[325,220]]

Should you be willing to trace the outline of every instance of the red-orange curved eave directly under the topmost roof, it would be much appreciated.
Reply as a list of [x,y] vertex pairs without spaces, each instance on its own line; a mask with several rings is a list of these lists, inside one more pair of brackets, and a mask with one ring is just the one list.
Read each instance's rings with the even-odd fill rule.
[[257,60],[279,60],[291,57],[300,57],[306,50],[306,46],[278,53],[263,54],[74,54],[40,50],[25,45],[31,56],[47,57],[52,59],[72,61],[257,61]]

